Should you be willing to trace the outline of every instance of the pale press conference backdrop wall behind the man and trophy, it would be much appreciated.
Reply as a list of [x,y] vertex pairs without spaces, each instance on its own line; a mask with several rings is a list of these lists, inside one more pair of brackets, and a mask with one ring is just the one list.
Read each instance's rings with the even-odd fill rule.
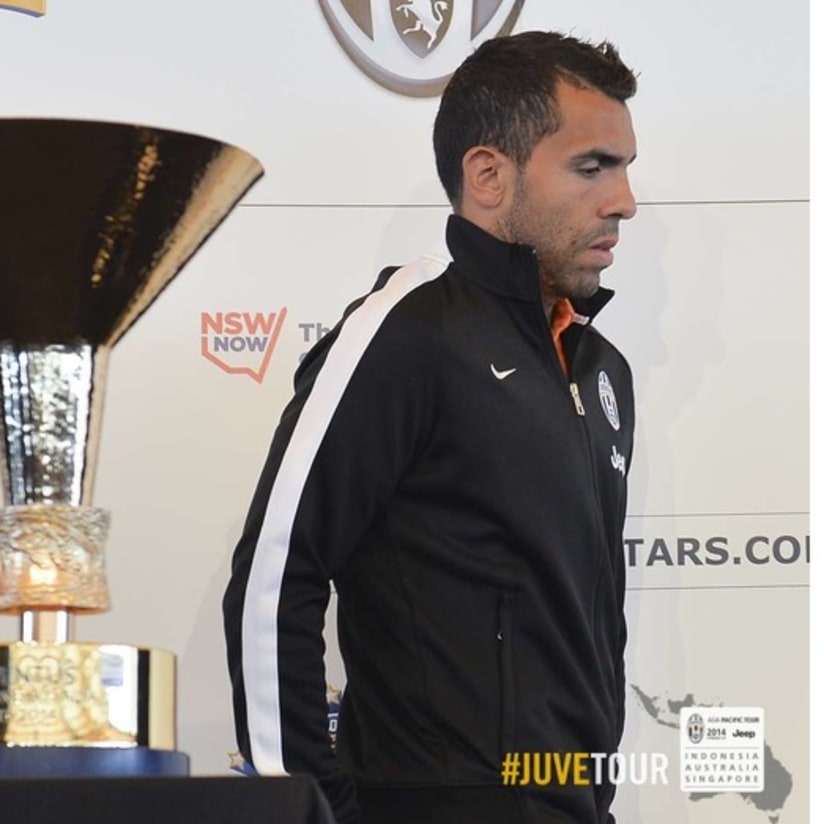
[[[502,27],[608,37],[640,75],[639,210],[598,322],[638,398],[622,751],[669,759],[668,783],[625,783],[616,812],[804,824],[806,5],[447,0],[446,29],[408,35],[400,5],[49,0],[39,17],[0,5],[0,116],[197,132],[266,169],[114,350],[94,495],[113,516],[113,609],[77,635],[175,652],[180,749],[195,774],[229,774],[220,599],[294,369],[379,268],[443,249],[437,98],[421,93]],[[426,17],[428,3],[405,5],[408,28]],[[340,689],[333,610],[327,632]],[[16,633],[0,620],[0,637]],[[763,793],[680,790],[678,711],[691,705],[764,708]]]

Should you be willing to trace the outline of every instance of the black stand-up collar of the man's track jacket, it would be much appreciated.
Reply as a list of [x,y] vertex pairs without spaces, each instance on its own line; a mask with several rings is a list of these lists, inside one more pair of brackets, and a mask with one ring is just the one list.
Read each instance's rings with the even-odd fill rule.
[[[455,266],[470,280],[504,297],[541,303],[538,259],[531,246],[498,240],[455,214],[446,224],[446,243]],[[590,298],[575,298],[576,321],[588,323],[614,294],[602,286]]]

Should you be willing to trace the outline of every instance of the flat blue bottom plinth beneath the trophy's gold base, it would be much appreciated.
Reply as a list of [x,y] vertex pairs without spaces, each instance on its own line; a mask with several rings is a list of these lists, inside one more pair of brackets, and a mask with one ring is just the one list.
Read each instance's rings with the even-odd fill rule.
[[188,775],[188,755],[148,747],[0,747],[0,776],[3,778]]

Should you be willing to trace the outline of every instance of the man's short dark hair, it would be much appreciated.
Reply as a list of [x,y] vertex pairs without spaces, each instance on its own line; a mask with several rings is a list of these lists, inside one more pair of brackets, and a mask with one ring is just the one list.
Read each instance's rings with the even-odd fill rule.
[[463,157],[494,146],[523,168],[541,138],[556,132],[555,90],[563,80],[621,102],[636,80],[612,43],[528,31],[487,40],[458,67],[435,118],[438,176],[453,206],[460,200]]

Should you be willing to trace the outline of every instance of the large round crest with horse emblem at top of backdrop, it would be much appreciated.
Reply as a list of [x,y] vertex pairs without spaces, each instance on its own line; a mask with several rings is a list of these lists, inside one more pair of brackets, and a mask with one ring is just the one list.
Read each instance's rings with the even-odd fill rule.
[[343,50],[384,88],[443,91],[480,43],[512,31],[524,0],[318,0]]

